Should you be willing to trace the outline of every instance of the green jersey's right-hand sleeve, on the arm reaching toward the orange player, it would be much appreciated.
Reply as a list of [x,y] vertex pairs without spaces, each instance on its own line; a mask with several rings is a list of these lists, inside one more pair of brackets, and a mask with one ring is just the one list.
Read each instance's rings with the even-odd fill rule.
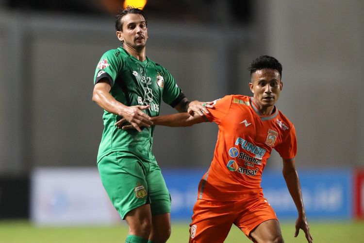
[[177,86],[172,74],[170,74],[170,72],[162,66],[159,67],[165,82],[162,99],[166,104],[174,107],[184,98],[184,95],[181,89]]

